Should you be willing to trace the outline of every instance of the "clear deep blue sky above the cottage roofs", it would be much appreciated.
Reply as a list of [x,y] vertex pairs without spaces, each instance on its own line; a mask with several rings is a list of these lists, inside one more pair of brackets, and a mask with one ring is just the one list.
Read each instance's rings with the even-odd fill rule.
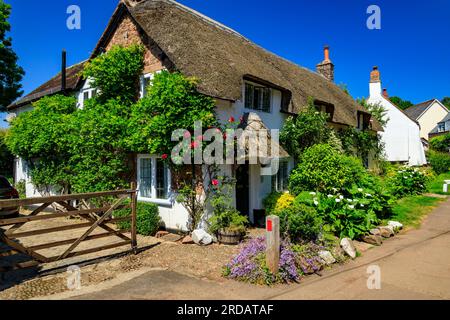
[[[61,50],[68,63],[89,57],[118,0],[5,0],[13,47],[25,69],[25,93],[54,76]],[[354,97],[368,94],[378,65],[391,95],[414,103],[450,96],[448,0],[181,0],[266,49],[309,69],[331,47],[336,83]],[[66,9],[81,8],[81,30],[68,30]],[[366,27],[369,5],[381,8],[381,30]],[[1,121],[1,125],[5,125]]]

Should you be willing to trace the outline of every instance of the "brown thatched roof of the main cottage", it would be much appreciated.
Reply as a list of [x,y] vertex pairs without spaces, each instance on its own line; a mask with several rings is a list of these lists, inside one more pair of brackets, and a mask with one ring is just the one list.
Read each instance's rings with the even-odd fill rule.
[[[128,4],[128,10],[177,69],[200,78],[200,90],[207,95],[242,100],[242,84],[250,76],[284,88],[292,97],[284,106],[286,112],[297,113],[309,97],[333,104],[336,123],[356,126],[357,111],[367,112],[318,73],[280,58],[174,1],[143,0]],[[374,130],[381,127],[375,123]]]

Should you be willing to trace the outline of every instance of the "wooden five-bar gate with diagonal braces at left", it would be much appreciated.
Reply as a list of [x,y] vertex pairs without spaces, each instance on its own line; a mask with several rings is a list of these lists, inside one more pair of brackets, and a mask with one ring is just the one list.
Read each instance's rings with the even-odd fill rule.
[[[105,205],[105,199],[107,199],[107,205]],[[130,199],[130,203],[124,203],[126,199]],[[77,204],[74,204],[75,202]],[[0,272],[34,267],[42,263],[55,262],[58,260],[126,245],[131,245],[132,250],[136,252],[137,192],[134,184],[130,190],[71,194],[43,198],[0,200],[0,209],[33,205],[38,205],[38,207],[26,216],[20,216],[17,218],[0,217],[0,244],[3,243],[8,247],[6,251],[0,252],[0,259],[4,257],[11,257],[13,255],[26,255],[31,258],[30,261],[15,263],[13,266],[0,267]],[[51,212],[48,212],[47,210],[47,212],[44,212],[44,210],[49,209],[49,207],[52,206],[56,206],[57,210],[52,210]],[[114,217],[113,213],[119,209],[129,209],[130,215],[126,217]],[[38,224],[39,221],[42,222],[45,220],[62,217],[78,217],[81,218],[83,222],[64,224],[45,229],[20,230],[24,225],[30,222],[36,222],[35,224]],[[115,228],[117,223],[127,221],[130,222],[130,229],[117,230],[117,228]],[[26,246],[19,241],[20,239],[26,237],[48,235],[75,229],[81,230],[83,228],[85,228],[86,231],[81,236],[73,239],[64,239],[31,246]],[[105,232],[93,234],[93,231],[96,229],[102,229]],[[128,232],[131,232],[131,237],[126,235]],[[84,241],[92,241],[113,236],[120,238],[121,241],[74,251],[80,243]],[[62,253],[55,256],[44,256],[38,253],[38,251],[44,249],[61,246],[69,247]]]

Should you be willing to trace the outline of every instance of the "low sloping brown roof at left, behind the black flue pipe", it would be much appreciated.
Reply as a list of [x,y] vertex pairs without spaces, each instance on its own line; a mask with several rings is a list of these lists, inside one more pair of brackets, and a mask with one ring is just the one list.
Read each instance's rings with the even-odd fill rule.
[[[66,89],[75,90],[80,79],[80,72],[83,70],[86,61],[74,64],[66,69]],[[45,82],[26,96],[20,98],[8,106],[8,110],[14,110],[28,103],[38,100],[44,96],[61,92],[61,72],[49,81]]]

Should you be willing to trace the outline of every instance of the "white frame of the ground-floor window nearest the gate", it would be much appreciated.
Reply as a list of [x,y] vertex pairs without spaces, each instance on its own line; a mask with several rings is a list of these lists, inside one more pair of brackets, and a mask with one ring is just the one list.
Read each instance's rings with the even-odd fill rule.
[[[151,182],[151,198],[148,197],[142,197],[140,190],[140,184],[141,184],[141,160],[142,159],[151,159],[152,160],[152,182]],[[160,157],[155,155],[149,155],[149,154],[139,154],[137,156],[137,189],[138,189],[138,201],[142,202],[151,202],[156,203],[158,205],[163,206],[171,206],[172,205],[172,176],[170,173],[170,169],[167,168],[167,199],[158,199],[156,197],[156,160],[160,159]]]

